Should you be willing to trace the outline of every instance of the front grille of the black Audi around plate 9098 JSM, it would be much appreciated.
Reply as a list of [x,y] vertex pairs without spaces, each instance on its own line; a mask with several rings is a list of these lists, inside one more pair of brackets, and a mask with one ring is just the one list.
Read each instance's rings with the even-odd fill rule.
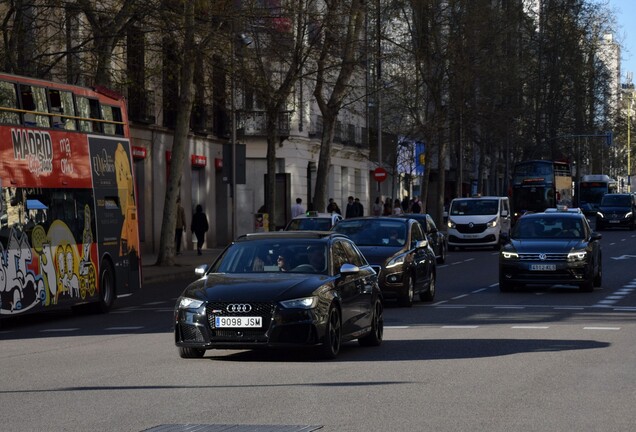
[[[227,307],[232,303],[209,303],[206,306],[208,324],[210,325],[210,338],[214,342],[267,342],[267,330],[274,315],[276,306],[273,303],[257,302],[249,304],[252,307],[250,312],[228,312]],[[214,318],[217,316],[260,316],[263,318],[263,327],[260,329],[240,328],[240,329],[217,329]]]

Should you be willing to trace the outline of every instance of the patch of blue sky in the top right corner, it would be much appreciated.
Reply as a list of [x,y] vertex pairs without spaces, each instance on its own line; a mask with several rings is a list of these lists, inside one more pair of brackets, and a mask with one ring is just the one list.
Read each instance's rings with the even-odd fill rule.
[[609,0],[609,8],[618,24],[615,40],[621,44],[621,82],[632,72],[636,83],[636,0]]

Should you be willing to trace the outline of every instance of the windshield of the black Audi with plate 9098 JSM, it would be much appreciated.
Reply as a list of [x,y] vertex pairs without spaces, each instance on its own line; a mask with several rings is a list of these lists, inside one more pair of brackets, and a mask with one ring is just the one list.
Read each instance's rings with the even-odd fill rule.
[[328,274],[327,244],[308,239],[263,239],[231,245],[215,263],[214,273]]

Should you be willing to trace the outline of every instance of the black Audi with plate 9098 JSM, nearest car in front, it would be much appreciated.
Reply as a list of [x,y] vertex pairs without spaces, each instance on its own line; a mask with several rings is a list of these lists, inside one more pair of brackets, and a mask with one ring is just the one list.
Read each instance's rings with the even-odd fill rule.
[[213,348],[310,346],[335,358],[343,342],[377,346],[384,329],[377,275],[333,232],[241,236],[177,300],[183,358]]

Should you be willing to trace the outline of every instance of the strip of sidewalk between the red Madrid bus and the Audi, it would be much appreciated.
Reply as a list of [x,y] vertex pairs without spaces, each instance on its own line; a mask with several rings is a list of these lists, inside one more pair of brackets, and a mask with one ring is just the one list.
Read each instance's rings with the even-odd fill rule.
[[223,248],[203,249],[202,255],[197,255],[196,250],[182,251],[175,257],[176,265],[171,267],[158,267],[157,254],[146,254],[141,257],[143,284],[158,282],[168,279],[191,277],[195,279],[194,269],[201,264],[211,265]]

